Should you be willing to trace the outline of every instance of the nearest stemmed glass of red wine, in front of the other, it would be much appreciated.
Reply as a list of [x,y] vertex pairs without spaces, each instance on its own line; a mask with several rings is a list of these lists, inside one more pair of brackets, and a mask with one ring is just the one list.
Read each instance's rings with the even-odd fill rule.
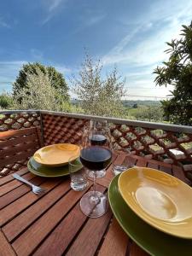
[[102,216],[108,210],[108,197],[96,191],[96,172],[106,169],[112,160],[112,151],[106,142],[98,145],[95,143],[96,134],[90,133],[90,139],[81,149],[80,160],[84,167],[93,172],[93,190],[86,193],[80,201],[81,211],[90,218]]

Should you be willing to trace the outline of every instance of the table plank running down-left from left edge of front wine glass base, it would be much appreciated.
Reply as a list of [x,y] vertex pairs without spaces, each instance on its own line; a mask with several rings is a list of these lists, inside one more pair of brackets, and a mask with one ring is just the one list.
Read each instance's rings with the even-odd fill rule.
[[79,204],[68,213],[49,237],[38,247],[33,256],[62,255],[76,236],[87,217],[79,210]]

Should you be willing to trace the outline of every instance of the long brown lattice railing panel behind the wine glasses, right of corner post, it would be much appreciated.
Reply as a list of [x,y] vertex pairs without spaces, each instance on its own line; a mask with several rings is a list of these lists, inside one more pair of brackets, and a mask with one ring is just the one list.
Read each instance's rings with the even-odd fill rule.
[[[79,143],[88,119],[42,114],[44,144]],[[154,130],[131,125],[110,124],[113,144],[119,150],[130,151],[149,159],[165,161],[192,170],[192,135]],[[174,149],[172,151],[172,149]]]

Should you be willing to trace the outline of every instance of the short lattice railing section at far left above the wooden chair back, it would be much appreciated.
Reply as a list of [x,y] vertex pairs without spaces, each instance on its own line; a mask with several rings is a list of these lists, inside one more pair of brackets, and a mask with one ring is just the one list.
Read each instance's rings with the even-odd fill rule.
[[0,131],[40,126],[40,113],[0,114]]

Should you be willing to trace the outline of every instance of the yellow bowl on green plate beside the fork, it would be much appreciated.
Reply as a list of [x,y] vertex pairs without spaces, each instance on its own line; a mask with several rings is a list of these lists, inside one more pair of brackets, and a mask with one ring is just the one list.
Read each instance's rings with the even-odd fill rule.
[[79,157],[80,148],[74,144],[61,143],[38,149],[33,155],[34,160],[44,166],[64,166],[70,158]]

